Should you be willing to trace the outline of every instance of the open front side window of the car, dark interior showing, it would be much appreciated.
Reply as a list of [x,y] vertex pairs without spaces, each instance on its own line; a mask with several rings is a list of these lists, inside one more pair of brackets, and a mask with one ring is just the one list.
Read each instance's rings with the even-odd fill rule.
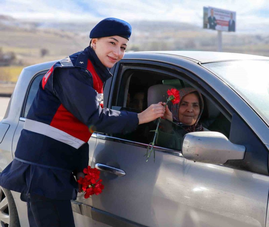
[[[171,88],[181,89],[190,87],[184,80],[172,77],[168,74],[138,70],[132,73],[126,72],[121,78],[118,86],[117,99],[112,109],[121,111],[132,111],[140,113],[153,103],[166,102],[166,91]],[[229,137],[230,121],[213,105],[207,98],[203,97],[204,111],[200,122],[203,130],[218,131]],[[171,104],[169,109],[171,110]],[[149,144],[154,138],[158,121],[138,125],[134,132],[128,134],[113,134],[112,136],[128,141]],[[161,119],[158,140],[155,145],[181,150],[181,141],[190,130],[180,122]]]

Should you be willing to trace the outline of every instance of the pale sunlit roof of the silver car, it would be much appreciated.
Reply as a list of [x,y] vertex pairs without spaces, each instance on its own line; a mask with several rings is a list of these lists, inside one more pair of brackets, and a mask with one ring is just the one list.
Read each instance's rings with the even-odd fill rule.
[[136,53],[159,53],[183,57],[200,63],[230,61],[230,60],[269,60],[269,57],[214,51],[145,51]]

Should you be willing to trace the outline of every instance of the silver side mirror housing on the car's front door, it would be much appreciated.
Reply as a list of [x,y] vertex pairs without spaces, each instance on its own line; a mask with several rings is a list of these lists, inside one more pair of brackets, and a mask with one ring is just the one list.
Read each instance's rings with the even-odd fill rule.
[[245,150],[244,146],[233,144],[220,132],[187,133],[181,147],[184,158],[210,164],[244,159]]

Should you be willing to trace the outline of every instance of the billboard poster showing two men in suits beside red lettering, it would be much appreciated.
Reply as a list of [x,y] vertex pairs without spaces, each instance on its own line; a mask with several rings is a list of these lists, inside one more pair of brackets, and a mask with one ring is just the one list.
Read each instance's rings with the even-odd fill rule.
[[210,6],[204,9],[203,28],[218,31],[236,31],[236,12]]

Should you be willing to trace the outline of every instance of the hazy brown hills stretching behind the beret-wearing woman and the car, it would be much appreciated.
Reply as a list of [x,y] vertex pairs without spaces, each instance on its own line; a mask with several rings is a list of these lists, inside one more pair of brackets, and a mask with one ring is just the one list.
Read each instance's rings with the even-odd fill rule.
[[[0,15],[0,48],[13,51],[24,65],[59,59],[88,46],[96,23],[25,22]],[[181,22],[131,24],[129,51],[217,50],[216,31]],[[46,49],[43,57],[41,49]],[[223,51],[269,56],[269,35],[223,32]]]

